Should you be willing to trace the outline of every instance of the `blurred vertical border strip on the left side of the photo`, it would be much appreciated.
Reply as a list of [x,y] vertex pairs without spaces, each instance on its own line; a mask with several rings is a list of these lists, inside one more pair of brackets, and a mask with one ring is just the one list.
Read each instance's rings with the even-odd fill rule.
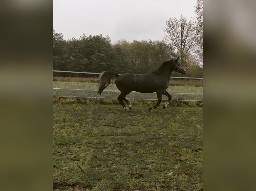
[[0,6],[0,190],[52,190],[52,1]]

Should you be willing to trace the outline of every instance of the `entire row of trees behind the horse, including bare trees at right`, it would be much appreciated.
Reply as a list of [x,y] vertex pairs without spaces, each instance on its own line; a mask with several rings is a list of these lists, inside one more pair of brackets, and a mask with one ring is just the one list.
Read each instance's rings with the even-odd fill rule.
[[[198,0],[198,4],[201,1]],[[203,6],[195,6],[196,13],[202,14],[202,11]],[[151,73],[165,60],[179,56],[181,64],[187,69],[187,77],[203,77],[202,30],[197,20],[187,21],[182,15],[179,20],[170,18],[166,22],[166,35],[162,41],[127,42],[122,39],[112,44],[110,38],[102,34],[83,34],[79,39],[64,40],[62,33],[53,29],[53,70],[95,73],[111,70],[120,74],[143,74]],[[54,72],[54,76],[86,75]],[[172,76],[180,74],[173,72]]]

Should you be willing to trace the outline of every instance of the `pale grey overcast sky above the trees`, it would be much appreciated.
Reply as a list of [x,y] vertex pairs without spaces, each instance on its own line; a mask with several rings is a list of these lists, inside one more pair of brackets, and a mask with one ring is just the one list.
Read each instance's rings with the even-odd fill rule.
[[53,28],[64,39],[107,35],[117,40],[163,40],[165,22],[195,17],[196,0],[53,0]]

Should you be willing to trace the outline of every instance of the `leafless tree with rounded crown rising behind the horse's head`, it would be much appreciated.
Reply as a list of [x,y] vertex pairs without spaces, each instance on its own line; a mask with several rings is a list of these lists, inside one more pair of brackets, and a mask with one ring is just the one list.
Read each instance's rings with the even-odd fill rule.
[[[169,41],[181,58],[181,63],[186,65],[186,57],[195,51],[198,32],[192,21],[187,21],[182,15],[180,19],[170,18],[166,21],[164,39]],[[183,66],[184,66],[183,65]]]

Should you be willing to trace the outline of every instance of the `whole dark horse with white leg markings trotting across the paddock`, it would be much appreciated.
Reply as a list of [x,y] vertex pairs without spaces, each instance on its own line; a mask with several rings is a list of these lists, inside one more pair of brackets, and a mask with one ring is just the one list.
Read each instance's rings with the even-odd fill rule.
[[[125,97],[131,91],[141,93],[153,93],[156,92],[157,103],[153,106],[154,109],[162,102],[162,94],[168,97],[168,101],[163,105],[165,109],[171,100],[171,95],[166,91],[169,87],[169,80],[172,71],[176,71],[181,74],[186,74],[186,69],[180,64],[177,59],[171,59],[164,61],[154,72],[150,74],[117,74],[112,71],[104,71],[99,75],[99,90],[97,95],[101,95],[102,91],[110,84],[111,80],[115,79],[115,84],[121,94],[118,95],[117,100],[125,110],[128,110],[123,101],[128,104],[129,110],[132,109],[132,104]],[[149,111],[152,107],[149,107]]]

